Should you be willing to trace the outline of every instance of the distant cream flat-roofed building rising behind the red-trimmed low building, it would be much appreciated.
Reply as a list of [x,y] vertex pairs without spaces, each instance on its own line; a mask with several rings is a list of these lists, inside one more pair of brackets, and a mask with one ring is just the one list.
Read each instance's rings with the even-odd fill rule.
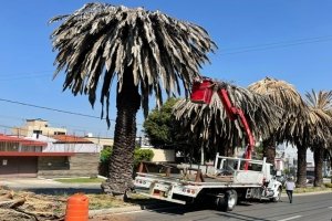
[[66,135],[65,128],[50,127],[49,122],[38,119],[27,119],[25,125],[21,127],[12,128],[12,134],[15,136],[31,137],[33,134],[37,135]]

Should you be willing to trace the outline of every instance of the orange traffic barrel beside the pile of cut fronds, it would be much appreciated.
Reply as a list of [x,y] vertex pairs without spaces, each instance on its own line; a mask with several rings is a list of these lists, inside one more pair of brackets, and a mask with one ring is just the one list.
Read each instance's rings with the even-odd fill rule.
[[89,220],[89,198],[83,193],[75,193],[68,198],[65,209],[65,221]]

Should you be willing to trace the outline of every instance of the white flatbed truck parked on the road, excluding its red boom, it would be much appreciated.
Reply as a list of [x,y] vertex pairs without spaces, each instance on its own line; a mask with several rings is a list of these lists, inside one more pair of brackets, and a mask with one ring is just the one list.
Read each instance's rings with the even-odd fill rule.
[[[159,172],[148,172],[152,165],[158,166]],[[240,200],[280,200],[282,185],[271,168],[266,160],[219,155],[212,166],[142,162],[134,187],[135,192],[149,198],[179,204],[208,199],[218,210],[231,211]]]

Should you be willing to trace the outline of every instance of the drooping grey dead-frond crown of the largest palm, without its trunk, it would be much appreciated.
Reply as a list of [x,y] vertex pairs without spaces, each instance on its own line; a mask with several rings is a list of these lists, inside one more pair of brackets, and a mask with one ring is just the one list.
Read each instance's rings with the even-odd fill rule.
[[53,48],[59,51],[54,76],[65,70],[64,90],[71,88],[74,95],[89,94],[94,105],[104,73],[104,98],[108,104],[114,76],[120,93],[125,70],[131,69],[134,84],[141,88],[145,114],[153,92],[157,105],[162,104],[162,85],[168,95],[180,93],[181,80],[187,92],[193,78],[199,75],[200,64],[208,61],[206,53],[216,46],[203,28],[143,8],[87,3],[50,22],[56,21],[63,23],[51,35]]

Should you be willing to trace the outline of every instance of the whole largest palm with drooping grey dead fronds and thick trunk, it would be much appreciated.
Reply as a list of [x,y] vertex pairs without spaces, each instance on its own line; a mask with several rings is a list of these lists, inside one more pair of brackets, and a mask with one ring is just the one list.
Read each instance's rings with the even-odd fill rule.
[[[136,113],[148,113],[154,94],[162,105],[168,96],[188,92],[198,70],[216,46],[203,28],[179,21],[160,11],[129,9],[107,3],[87,3],[62,21],[51,35],[58,51],[55,75],[66,74],[63,90],[89,95],[92,106],[98,82],[100,101],[108,119],[110,91],[116,77],[116,125],[110,178],[102,185],[107,193],[123,194],[132,186]],[[104,113],[102,112],[102,117]]]

